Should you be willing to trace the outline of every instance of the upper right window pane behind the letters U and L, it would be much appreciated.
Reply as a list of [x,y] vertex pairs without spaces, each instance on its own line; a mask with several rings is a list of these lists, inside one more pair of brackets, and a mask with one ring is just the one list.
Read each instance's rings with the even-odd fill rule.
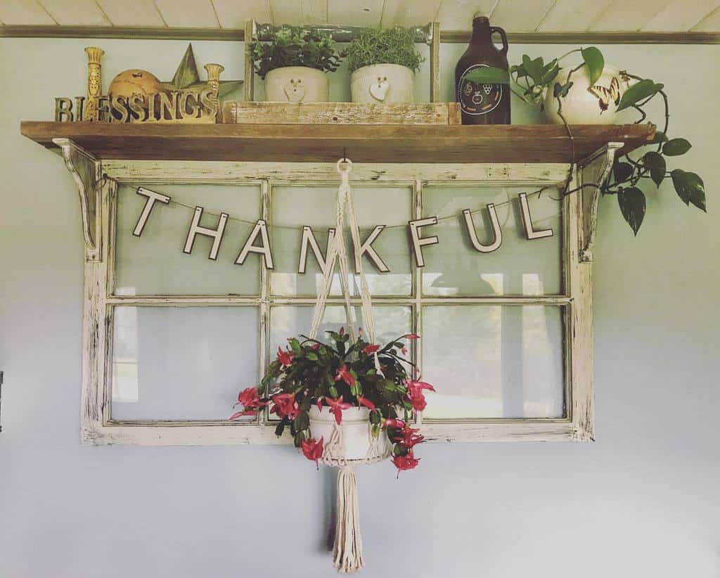
[[[528,191],[532,189],[424,187],[423,212],[437,216],[438,225],[425,227],[423,236],[437,235],[440,243],[423,248],[423,294],[451,297],[561,293],[562,203],[551,198],[557,198],[556,189],[544,191],[540,197],[528,196],[534,230],[552,229],[553,235],[527,240],[518,194]],[[462,211],[473,212],[477,240],[489,245],[493,234],[485,209],[488,203],[495,204],[503,243],[492,253],[480,253],[470,242]]]

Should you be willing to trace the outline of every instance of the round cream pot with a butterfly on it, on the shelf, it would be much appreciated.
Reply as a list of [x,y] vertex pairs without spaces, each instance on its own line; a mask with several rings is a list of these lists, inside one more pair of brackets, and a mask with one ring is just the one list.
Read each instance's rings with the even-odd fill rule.
[[[570,68],[560,71],[555,81],[564,84],[569,71]],[[615,99],[619,98],[629,86],[620,76],[617,68],[606,65],[592,90],[588,90],[590,77],[585,66],[572,73],[570,80],[572,86],[567,96],[562,97],[562,116],[565,117],[568,125],[611,125],[615,122],[617,114]],[[552,86],[545,96],[545,117],[548,122],[555,125],[563,124],[562,118],[557,114],[557,99],[552,94]]]

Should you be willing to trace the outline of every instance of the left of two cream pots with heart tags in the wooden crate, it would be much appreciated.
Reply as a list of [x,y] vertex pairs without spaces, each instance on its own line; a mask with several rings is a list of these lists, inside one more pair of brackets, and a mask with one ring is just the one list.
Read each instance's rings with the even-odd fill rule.
[[307,66],[284,66],[265,75],[265,100],[269,102],[327,102],[328,76]]

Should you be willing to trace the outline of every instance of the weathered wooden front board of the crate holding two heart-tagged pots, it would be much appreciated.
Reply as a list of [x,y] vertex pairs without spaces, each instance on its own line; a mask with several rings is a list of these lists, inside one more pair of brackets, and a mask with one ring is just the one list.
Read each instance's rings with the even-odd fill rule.
[[222,122],[243,125],[459,125],[456,102],[360,104],[358,102],[222,103]]

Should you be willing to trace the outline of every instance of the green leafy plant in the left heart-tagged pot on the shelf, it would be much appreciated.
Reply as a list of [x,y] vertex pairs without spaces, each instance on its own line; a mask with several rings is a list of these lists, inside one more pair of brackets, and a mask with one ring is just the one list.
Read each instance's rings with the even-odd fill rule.
[[340,66],[343,53],[328,32],[284,26],[274,32],[268,42],[251,43],[255,71],[260,78],[275,68],[307,66],[318,71],[333,72]]

